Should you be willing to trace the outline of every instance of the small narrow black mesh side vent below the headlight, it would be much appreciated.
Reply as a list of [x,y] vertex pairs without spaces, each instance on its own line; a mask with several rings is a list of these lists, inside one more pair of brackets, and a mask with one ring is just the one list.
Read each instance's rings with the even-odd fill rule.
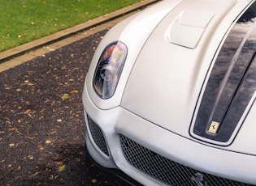
[[102,150],[102,152],[104,154],[109,156],[107,146],[106,146],[105,137],[102,133],[102,129],[100,129],[98,127],[98,125],[95,124],[94,121],[89,118],[89,116],[88,116],[88,121],[89,121],[89,130],[90,130],[91,135],[93,137],[93,141],[96,143],[98,148],[100,150]]

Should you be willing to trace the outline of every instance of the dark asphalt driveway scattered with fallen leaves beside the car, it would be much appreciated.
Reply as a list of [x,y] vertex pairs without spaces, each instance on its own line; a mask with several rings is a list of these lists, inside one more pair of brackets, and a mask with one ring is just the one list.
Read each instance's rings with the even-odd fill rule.
[[0,185],[126,185],[85,150],[82,87],[105,32],[0,73]]

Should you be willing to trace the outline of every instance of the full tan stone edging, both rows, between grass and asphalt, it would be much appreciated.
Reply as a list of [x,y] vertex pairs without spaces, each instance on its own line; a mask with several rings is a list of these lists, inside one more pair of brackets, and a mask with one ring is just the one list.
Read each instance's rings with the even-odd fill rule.
[[33,40],[27,44],[22,44],[14,49],[9,49],[0,53],[0,73],[15,66],[19,66],[25,61],[32,60],[36,57],[44,56],[56,49],[67,44],[81,40],[87,36],[91,36],[97,32],[101,32],[109,27],[113,27],[116,23],[133,15],[146,6],[150,6],[158,2],[158,0],[142,0],[124,7],[118,11],[102,15],[96,19],[80,23],[75,27],[67,28],[61,32],[56,32],[50,36],[45,36],[38,40]]

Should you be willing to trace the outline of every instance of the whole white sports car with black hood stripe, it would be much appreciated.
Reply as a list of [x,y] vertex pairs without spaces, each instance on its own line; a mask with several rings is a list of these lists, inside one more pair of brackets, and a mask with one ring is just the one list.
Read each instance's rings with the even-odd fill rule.
[[165,0],[111,28],[85,79],[89,154],[145,185],[256,184],[256,2]]

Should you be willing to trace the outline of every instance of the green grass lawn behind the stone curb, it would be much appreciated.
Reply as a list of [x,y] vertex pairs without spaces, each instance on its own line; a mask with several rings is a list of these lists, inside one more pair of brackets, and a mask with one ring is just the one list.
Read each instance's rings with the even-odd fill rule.
[[140,0],[0,0],[0,52]]

